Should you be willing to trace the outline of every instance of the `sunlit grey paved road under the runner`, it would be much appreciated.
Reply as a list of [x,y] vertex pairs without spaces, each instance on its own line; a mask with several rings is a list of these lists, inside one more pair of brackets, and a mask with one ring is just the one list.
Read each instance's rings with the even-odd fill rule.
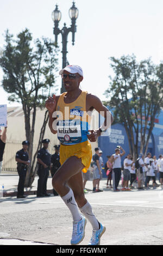
[[[87,186],[92,186],[89,182]],[[86,199],[106,227],[101,245],[163,245],[160,187],[149,191],[90,192]],[[72,218],[60,197],[9,197],[0,199],[0,208],[0,245],[20,244],[8,239],[70,245]],[[81,245],[87,245],[91,233],[91,225],[87,223]]]

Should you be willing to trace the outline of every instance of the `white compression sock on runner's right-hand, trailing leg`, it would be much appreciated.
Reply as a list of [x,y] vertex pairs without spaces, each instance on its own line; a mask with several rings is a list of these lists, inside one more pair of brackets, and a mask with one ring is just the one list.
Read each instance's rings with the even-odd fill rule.
[[79,208],[82,214],[87,218],[87,220],[90,221],[93,230],[99,229],[99,222],[97,221],[97,218],[92,212],[92,207],[89,202],[87,202],[82,208]]

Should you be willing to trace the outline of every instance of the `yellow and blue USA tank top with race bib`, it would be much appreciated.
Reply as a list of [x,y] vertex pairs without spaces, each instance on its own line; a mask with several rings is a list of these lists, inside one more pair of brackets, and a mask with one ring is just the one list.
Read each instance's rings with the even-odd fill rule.
[[62,93],[58,99],[57,135],[62,144],[74,145],[87,141],[91,116],[86,112],[86,94],[82,91],[71,103],[64,102],[66,93]]

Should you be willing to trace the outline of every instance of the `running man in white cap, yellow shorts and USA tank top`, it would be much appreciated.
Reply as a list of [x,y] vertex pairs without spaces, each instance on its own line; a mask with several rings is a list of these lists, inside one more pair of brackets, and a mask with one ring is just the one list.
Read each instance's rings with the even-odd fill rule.
[[[99,245],[105,227],[93,215],[92,207],[85,198],[82,170],[86,172],[92,159],[91,144],[88,139],[90,142],[96,142],[98,136],[108,129],[113,119],[108,108],[97,96],[83,92],[79,88],[83,80],[83,70],[80,66],[68,65],[60,70],[59,74],[63,79],[66,93],[60,96],[53,95],[46,101],[49,128],[52,133],[58,134],[61,142],[61,167],[54,174],[52,185],[73,217],[71,244],[78,245],[84,239],[87,218],[93,229],[89,245]],[[89,130],[93,108],[98,112],[103,111],[105,117],[103,125],[98,130]],[[110,124],[107,121],[108,117]],[[84,216],[80,214],[78,208]]]

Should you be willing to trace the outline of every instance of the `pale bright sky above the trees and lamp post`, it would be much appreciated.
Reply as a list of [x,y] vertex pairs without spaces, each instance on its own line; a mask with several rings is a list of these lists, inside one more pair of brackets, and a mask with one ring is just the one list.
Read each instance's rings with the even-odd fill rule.
[[[79,9],[75,45],[68,35],[67,59],[70,64],[82,66],[83,90],[105,100],[104,91],[113,75],[109,57],[135,54],[137,60],[152,57],[154,63],[163,60],[163,1],[162,0],[76,0]],[[52,11],[59,5],[62,17],[60,28],[71,25],[68,10],[70,0],[5,0],[0,9],[0,47],[3,33],[8,28],[17,35],[29,28],[33,38],[54,38]],[[61,46],[61,36],[59,35]],[[61,68],[59,54],[59,69]],[[3,73],[0,70],[0,81]],[[57,84],[61,85],[60,77]],[[0,104],[8,103],[7,93],[0,87]],[[13,105],[10,104],[9,106]],[[14,105],[17,105],[15,103]]]

